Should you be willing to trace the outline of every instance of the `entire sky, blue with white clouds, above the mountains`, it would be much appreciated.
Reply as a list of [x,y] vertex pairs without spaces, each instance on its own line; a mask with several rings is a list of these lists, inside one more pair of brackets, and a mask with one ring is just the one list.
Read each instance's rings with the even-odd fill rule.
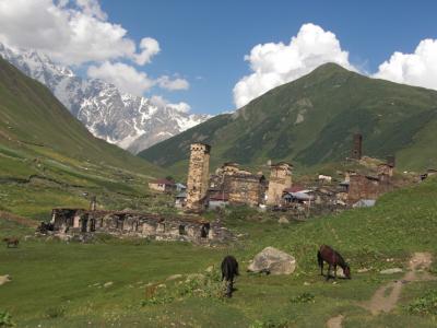
[[0,0],[0,42],[218,114],[328,61],[437,90],[437,1]]

